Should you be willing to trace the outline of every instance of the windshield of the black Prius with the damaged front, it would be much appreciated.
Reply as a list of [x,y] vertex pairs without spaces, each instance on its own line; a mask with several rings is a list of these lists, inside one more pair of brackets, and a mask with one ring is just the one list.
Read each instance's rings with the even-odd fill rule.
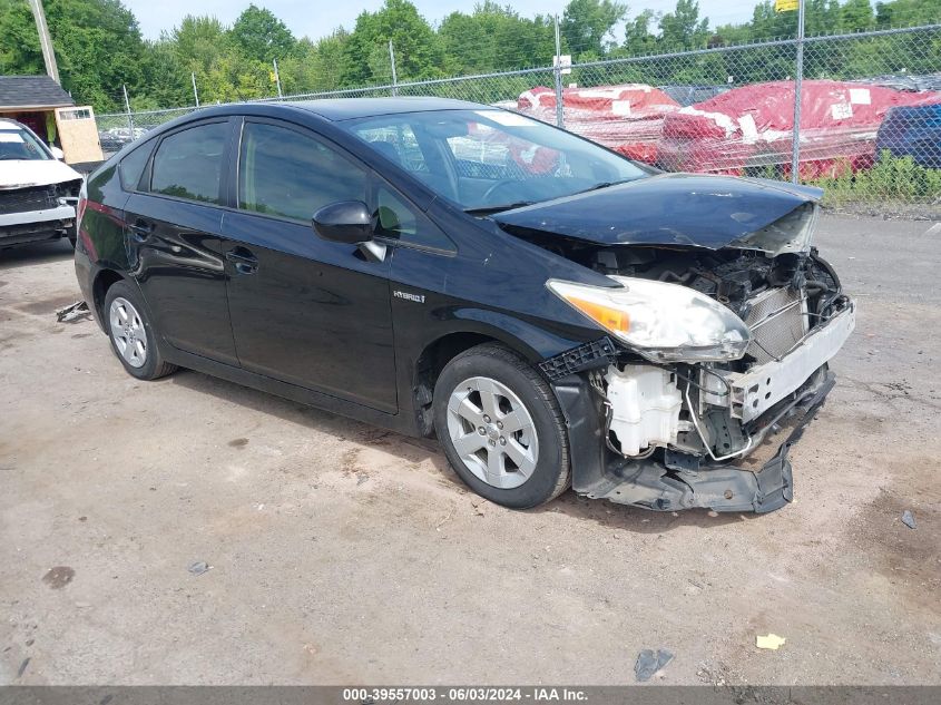
[[401,112],[340,125],[439,195],[480,215],[650,174],[598,145],[506,110]]

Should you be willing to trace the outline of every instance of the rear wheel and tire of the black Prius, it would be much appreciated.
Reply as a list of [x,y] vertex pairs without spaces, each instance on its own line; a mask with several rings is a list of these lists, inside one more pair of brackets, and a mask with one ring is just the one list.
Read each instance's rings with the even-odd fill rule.
[[108,288],[104,313],[111,349],[128,374],[156,380],[176,370],[160,358],[140,295],[127,282],[115,282]]

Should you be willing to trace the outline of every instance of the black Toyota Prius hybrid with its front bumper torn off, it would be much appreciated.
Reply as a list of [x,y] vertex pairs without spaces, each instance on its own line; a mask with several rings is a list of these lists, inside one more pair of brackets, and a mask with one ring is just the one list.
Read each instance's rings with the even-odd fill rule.
[[[661,174],[435,98],[229,105],[88,179],[76,270],[125,370],[413,435],[526,508],[770,511],[854,304],[821,192]],[[773,441],[773,442],[772,442]]]

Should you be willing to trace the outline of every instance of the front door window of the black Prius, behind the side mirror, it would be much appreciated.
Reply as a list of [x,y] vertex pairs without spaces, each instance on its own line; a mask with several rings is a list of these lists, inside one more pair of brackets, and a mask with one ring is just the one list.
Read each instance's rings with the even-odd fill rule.
[[333,147],[286,127],[246,123],[238,207],[310,221],[339,200],[366,200],[366,170]]

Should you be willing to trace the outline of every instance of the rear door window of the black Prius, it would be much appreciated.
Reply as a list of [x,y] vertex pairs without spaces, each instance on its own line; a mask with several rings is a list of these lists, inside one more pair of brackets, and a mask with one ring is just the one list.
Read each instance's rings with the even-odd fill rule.
[[150,190],[177,198],[219,203],[227,136],[227,123],[210,123],[166,137],[154,155]]

